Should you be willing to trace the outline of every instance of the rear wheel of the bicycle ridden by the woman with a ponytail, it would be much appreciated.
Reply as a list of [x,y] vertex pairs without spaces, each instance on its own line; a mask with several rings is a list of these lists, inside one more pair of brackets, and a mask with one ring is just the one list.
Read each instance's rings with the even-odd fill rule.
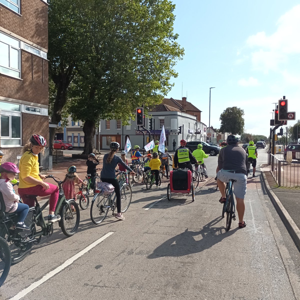
[[99,193],[92,200],[90,215],[91,220],[94,224],[100,224],[107,216],[110,198],[110,195],[106,197]]

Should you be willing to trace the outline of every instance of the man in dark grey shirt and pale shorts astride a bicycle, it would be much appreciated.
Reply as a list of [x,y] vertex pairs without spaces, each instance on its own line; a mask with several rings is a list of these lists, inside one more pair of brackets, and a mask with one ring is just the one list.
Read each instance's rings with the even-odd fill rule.
[[226,182],[235,179],[233,182],[233,193],[236,199],[236,210],[238,212],[238,227],[246,227],[244,221],[245,204],[244,198],[247,191],[247,154],[243,148],[238,146],[239,138],[235,135],[227,137],[228,146],[223,147],[219,152],[217,173],[217,184],[221,193],[220,203],[226,202]]

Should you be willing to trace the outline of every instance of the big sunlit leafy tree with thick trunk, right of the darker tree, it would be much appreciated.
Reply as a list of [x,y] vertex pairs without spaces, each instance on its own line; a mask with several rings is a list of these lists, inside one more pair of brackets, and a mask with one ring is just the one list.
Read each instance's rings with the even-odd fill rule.
[[[70,112],[84,122],[84,153],[95,150],[100,119],[134,118],[135,107],[161,103],[184,50],[173,33],[168,0],[85,1],[80,16],[85,43],[78,52]],[[77,54],[78,55],[78,54]]]

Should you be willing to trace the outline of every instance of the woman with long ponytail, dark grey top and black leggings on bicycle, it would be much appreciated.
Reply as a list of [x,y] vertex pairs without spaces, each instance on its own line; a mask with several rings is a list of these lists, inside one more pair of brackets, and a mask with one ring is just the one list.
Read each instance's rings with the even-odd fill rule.
[[117,202],[117,211],[116,218],[119,220],[125,220],[125,217],[123,216],[121,212],[121,192],[119,187],[119,182],[116,179],[116,167],[118,164],[121,164],[123,167],[125,167],[131,175],[134,175],[134,171],[129,168],[122,159],[116,155],[116,153],[119,150],[119,143],[112,142],[110,143],[110,153],[107,153],[104,155],[103,158],[103,167],[101,171],[101,181],[107,182],[113,185],[115,188],[116,193],[116,202]]

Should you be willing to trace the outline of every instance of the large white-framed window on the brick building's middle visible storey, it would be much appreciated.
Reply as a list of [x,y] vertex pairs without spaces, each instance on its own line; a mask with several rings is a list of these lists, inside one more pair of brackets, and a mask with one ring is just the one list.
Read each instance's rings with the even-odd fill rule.
[[0,53],[0,73],[20,78],[20,41],[0,32]]

